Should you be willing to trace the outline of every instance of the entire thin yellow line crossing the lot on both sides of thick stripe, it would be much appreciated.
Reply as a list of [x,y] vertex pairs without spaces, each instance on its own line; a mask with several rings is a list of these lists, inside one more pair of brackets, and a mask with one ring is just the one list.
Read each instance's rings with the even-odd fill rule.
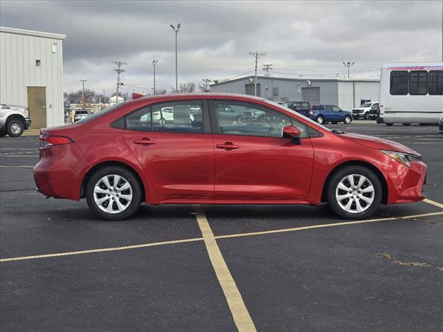
[[[361,220],[361,221],[345,221],[343,223],[325,223],[323,225],[311,225],[311,226],[302,226],[302,227],[296,227],[296,228],[285,228],[282,230],[264,230],[262,232],[217,235],[215,237],[215,239],[226,239],[229,237],[249,237],[252,235],[273,234],[273,233],[280,233],[280,232],[293,232],[293,231],[297,231],[297,230],[310,230],[310,229],[314,229],[314,228],[327,228],[327,227],[333,227],[333,226],[355,225],[355,224],[359,224],[359,223],[373,223],[375,221],[391,221],[391,220],[397,220],[397,219],[414,219],[414,218],[420,218],[422,216],[437,216],[440,214],[443,214],[443,212],[414,214],[411,216],[392,216],[389,218],[368,219],[368,220]],[[56,254],[24,256],[24,257],[10,257],[10,258],[0,259],[0,262],[3,263],[3,262],[7,262],[7,261],[21,261],[24,259],[39,259],[39,258],[80,255],[80,254],[91,254],[94,252],[129,250],[129,249],[137,249],[137,248],[163,246],[165,244],[186,243],[186,242],[195,242],[195,241],[203,241],[203,240],[204,239],[202,237],[198,237],[198,238],[193,238],[193,239],[183,239],[183,240],[174,240],[174,241],[163,241],[163,242],[136,244],[135,246],[123,246],[123,247],[115,247],[115,248],[101,248],[101,249],[80,250],[80,251],[71,251],[71,252],[59,252]]]

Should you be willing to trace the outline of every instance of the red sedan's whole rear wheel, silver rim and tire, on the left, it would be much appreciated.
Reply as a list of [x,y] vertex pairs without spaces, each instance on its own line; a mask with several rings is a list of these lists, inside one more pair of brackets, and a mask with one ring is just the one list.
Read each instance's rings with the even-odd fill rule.
[[87,183],[88,206],[101,219],[122,220],[132,216],[140,206],[141,197],[138,179],[123,167],[99,169]]

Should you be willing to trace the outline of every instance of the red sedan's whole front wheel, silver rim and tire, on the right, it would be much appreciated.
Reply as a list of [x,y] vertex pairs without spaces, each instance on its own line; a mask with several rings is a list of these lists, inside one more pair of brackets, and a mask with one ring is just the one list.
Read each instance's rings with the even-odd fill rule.
[[383,189],[377,175],[359,165],[340,169],[327,187],[330,208],[345,219],[371,216],[377,211],[382,196]]

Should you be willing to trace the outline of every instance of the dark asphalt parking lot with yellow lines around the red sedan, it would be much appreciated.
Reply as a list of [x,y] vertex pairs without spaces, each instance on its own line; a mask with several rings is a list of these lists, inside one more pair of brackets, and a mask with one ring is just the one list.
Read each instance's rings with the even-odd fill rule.
[[100,221],[35,192],[36,136],[1,138],[1,331],[443,331],[443,135],[370,123],[329,127],[419,151],[428,200],[359,222],[288,205]]

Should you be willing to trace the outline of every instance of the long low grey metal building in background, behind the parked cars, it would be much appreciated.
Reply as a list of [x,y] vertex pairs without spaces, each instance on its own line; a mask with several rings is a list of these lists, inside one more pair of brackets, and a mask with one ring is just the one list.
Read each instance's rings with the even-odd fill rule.
[[[254,94],[254,76],[215,82],[210,91],[215,93]],[[351,111],[365,101],[378,101],[380,81],[357,78],[282,78],[257,77],[257,95],[275,102],[305,101],[311,104],[332,104]]]

